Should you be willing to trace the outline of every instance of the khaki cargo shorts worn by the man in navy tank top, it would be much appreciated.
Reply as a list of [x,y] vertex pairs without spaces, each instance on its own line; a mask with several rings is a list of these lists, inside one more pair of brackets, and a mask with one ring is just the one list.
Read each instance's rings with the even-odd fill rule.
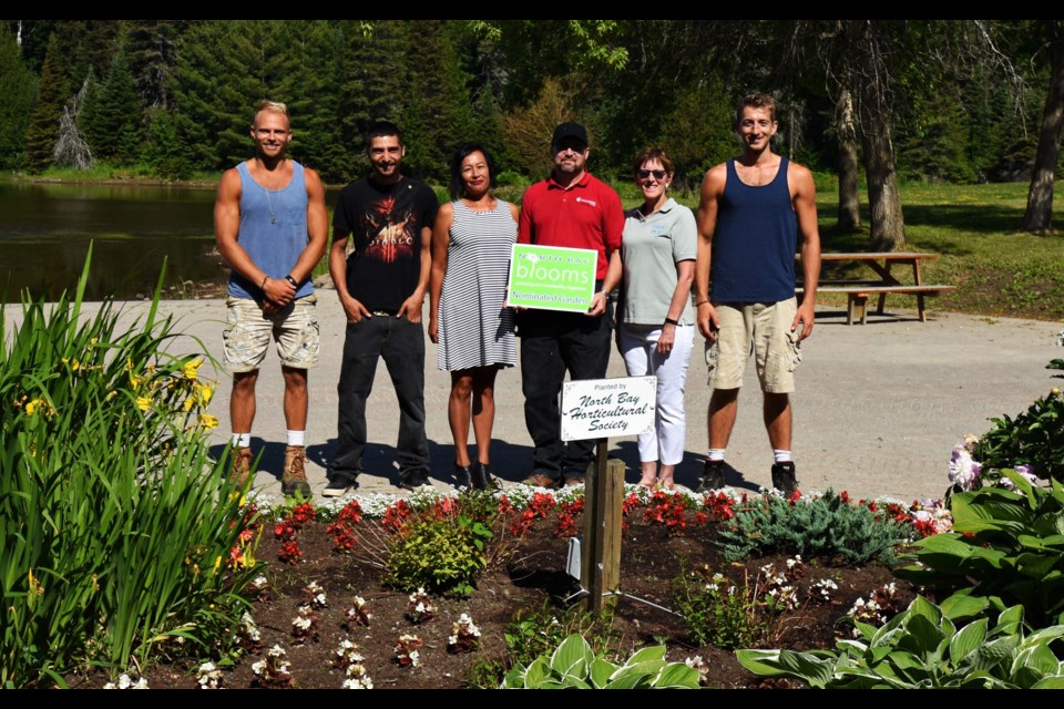
[[798,311],[795,298],[779,302],[722,302],[714,306],[720,331],[706,341],[706,366],[714,389],[738,389],[750,353],[761,391],[787,394],[795,390],[795,368],[801,361],[800,328],[791,331]]

